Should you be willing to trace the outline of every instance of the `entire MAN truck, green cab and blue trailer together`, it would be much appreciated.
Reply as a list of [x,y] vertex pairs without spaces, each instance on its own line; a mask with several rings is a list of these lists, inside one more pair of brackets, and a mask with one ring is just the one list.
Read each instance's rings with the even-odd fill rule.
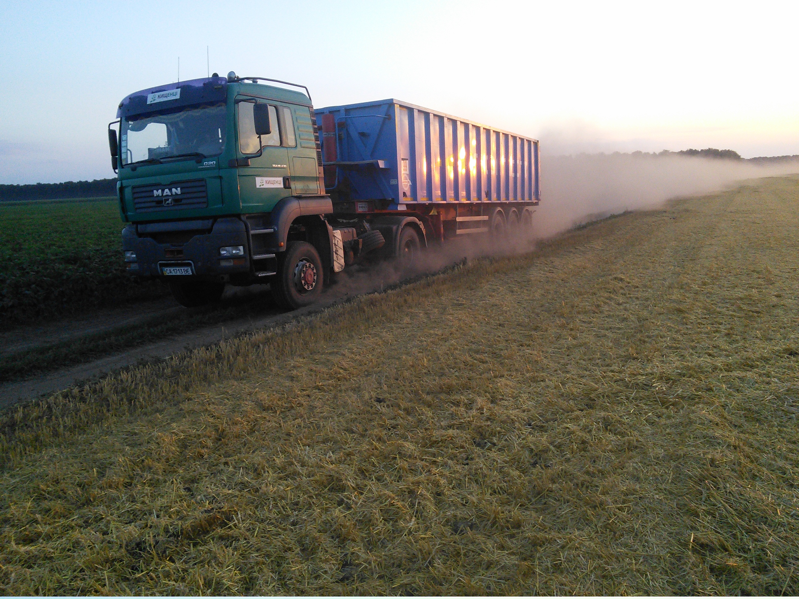
[[266,77],[143,89],[108,129],[125,268],[186,307],[264,283],[305,306],[353,264],[524,232],[539,203],[534,139],[394,99],[315,110]]

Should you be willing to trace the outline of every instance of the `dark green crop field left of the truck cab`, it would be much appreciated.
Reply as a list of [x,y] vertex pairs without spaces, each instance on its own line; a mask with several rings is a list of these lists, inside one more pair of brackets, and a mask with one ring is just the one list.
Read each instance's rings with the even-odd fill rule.
[[159,296],[121,256],[117,201],[0,203],[0,326]]

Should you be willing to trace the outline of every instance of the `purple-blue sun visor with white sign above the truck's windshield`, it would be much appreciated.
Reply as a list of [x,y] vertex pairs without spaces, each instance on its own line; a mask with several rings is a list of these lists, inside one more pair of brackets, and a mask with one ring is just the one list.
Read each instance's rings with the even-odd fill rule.
[[227,85],[225,77],[209,77],[142,89],[119,103],[117,118],[157,113],[181,106],[224,102]]

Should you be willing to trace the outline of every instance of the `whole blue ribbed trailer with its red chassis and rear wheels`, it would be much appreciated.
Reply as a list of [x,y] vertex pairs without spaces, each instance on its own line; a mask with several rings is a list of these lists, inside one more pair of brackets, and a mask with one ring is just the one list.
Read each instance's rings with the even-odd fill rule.
[[[399,222],[411,217],[421,246],[451,236],[530,228],[539,203],[539,142],[388,99],[316,109],[324,186],[334,212],[373,214],[402,254]],[[410,241],[413,243],[413,240]]]

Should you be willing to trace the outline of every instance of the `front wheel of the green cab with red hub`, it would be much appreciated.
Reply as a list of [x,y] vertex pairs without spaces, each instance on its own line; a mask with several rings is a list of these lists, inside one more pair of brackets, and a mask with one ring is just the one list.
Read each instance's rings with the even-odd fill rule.
[[280,307],[296,310],[319,299],[324,279],[319,252],[304,241],[292,241],[272,277],[272,296]]

